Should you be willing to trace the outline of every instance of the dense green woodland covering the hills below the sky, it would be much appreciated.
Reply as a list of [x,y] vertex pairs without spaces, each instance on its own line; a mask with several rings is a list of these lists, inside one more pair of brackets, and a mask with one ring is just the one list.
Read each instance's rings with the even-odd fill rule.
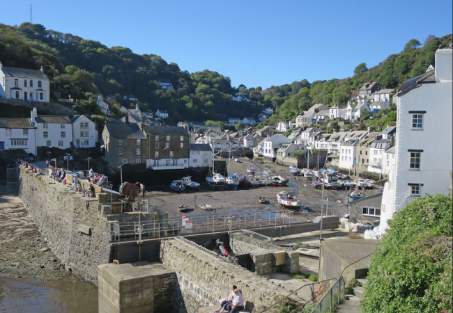
[[[229,77],[204,70],[190,73],[176,63],[167,63],[155,54],[138,55],[126,47],[106,47],[100,42],[85,40],[70,33],[47,30],[43,25],[23,23],[20,26],[0,24],[0,61],[4,66],[38,69],[45,72],[61,97],[79,100],[76,109],[88,115],[99,114],[95,104],[98,93],[115,99],[113,117],[121,115],[121,105],[132,108],[135,103],[124,100],[124,95],[139,99],[141,111],[165,109],[169,124],[178,121],[227,120],[245,118],[260,113],[268,106],[275,109],[270,120],[260,127],[278,120],[291,120],[300,111],[317,102],[327,106],[346,103],[358,94],[358,88],[367,81],[378,81],[382,88],[397,89],[401,82],[422,74],[434,63],[438,45],[452,42],[452,35],[436,38],[430,35],[422,45],[410,40],[399,54],[388,56],[375,67],[361,63],[352,77],[314,81],[306,79],[282,86],[247,88],[231,86]],[[55,65],[49,66],[49,65]],[[163,90],[158,79],[170,79],[174,89]],[[242,91],[250,102],[234,102],[231,95]]]

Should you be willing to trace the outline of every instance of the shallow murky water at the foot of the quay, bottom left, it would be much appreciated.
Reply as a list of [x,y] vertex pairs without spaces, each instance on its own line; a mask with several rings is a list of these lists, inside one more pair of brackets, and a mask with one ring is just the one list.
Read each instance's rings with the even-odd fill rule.
[[79,278],[0,278],[0,312],[95,313],[98,287]]

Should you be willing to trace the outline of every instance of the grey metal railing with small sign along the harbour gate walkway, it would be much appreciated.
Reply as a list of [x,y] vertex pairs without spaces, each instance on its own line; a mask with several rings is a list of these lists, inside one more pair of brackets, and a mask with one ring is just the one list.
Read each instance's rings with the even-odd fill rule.
[[[219,214],[135,222],[112,221],[111,240],[120,242],[137,239],[137,233],[134,231],[137,225],[141,225],[142,236],[160,238],[161,236],[198,235],[250,228],[290,226],[292,216],[293,212],[291,211],[266,211],[254,214]],[[148,217],[143,216],[143,219],[145,218]]]

